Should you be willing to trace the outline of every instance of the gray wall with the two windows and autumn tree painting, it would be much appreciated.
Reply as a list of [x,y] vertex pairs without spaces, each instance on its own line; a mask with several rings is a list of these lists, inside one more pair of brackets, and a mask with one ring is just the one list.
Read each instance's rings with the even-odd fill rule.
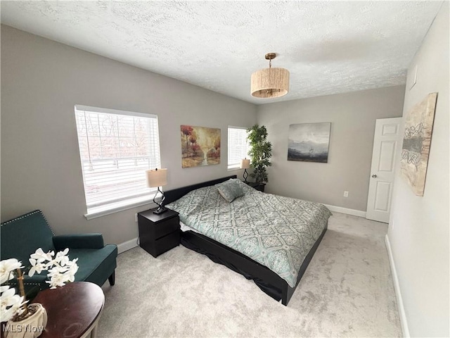
[[[228,173],[227,127],[249,127],[256,107],[178,80],[1,26],[1,220],[40,208],[58,234],[138,236],[134,213],[86,220],[74,105],[157,114],[166,189]],[[181,168],[181,124],[221,128],[221,163]]]

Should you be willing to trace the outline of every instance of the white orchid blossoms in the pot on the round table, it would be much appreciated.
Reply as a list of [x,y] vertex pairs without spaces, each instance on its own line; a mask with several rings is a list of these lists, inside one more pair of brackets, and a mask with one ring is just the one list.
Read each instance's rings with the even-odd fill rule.
[[[31,268],[28,275],[32,277],[34,273],[40,274],[42,271],[48,271],[46,283],[50,284],[51,289],[62,287],[66,282],[73,282],[75,280],[75,273],[77,273],[78,258],[70,261],[68,257],[69,249],[55,253],[44,251],[39,248],[36,252],[30,255],[29,261]],[[0,261],[0,321],[8,320],[22,320],[27,317],[28,308],[25,300],[25,289],[23,287],[23,273],[22,262],[15,258],[9,258],[5,261]],[[15,276],[14,276],[15,275]],[[16,290],[10,287],[7,282],[14,277],[18,280],[19,293],[15,294]],[[4,285],[6,283],[6,285]]]

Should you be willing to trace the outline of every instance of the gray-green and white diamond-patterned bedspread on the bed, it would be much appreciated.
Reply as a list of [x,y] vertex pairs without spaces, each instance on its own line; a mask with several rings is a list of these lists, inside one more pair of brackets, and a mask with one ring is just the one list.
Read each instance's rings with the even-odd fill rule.
[[264,194],[242,183],[229,203],[217,187],[193,190],[167,205],[181,222],[265,265],[295,287],[304,258],[331,213],[322,204]]

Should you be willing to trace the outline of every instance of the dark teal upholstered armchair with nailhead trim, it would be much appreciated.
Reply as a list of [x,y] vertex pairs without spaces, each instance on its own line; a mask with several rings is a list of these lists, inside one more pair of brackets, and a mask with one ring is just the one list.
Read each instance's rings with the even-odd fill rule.
[[[56,236],[40,210],[35,210],[1,223],[1,260],[16,258],[27,268],[28,258],[38,248],[44,252],[69,248],[70,259],[78,258],[77,282],[93,282],[102,286],[106,280],[115,283],[117,245],[103,243],[102,234],[66,234]],[[46,273],[25,276],[25,293],[32,298],[47,289]]]

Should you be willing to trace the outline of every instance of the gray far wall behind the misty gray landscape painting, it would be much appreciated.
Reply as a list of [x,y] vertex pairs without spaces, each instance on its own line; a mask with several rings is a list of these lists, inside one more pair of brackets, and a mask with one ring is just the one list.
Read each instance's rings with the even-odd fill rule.
[[[274,148],[266,191],[366,211],[375,120],[401,116],[403,101],[397,86],[258,106]],[[331,123],[328,163],[288,161],[289,125],[320,122]]]

